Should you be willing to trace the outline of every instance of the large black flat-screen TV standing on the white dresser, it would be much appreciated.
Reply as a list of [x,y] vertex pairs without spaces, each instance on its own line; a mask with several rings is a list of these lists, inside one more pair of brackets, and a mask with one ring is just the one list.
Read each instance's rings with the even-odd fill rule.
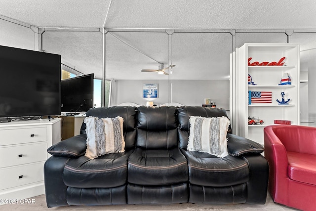
[[0,45],[0,118],[60,115],[60,55]]

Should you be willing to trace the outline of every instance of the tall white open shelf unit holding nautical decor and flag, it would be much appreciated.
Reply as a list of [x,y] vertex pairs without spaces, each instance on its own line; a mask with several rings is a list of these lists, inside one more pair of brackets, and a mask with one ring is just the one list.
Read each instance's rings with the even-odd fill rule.
[[[300,124],[299,84],[300,84],[300,49],[298,44],[290,43],[245,43],[236,48],[235,59],[231,59],[231,74],[236,88],[233,96],[235,134],[264,144],[263,128],[274,125],[274,120],[290,120],[292,125]],[[282,66],[248,66],[250,63],[278,62],[285,57]],[[291,85],[278,85],[284,73],[291,77]],[[248,74],[256,85],[248,85]],[[248,104],[248,91],[271,91],[271,103]],[[279,105],[281,92],[288,105]],[[259,117],[262,125],[248,125],[248,117]],[[235,128],[234,128],[235,127]]]

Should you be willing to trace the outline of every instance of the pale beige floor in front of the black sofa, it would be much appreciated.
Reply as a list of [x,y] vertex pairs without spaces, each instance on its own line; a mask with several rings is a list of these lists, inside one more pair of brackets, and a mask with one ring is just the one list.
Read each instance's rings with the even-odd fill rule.
[[269,194],[265,205],[198,205],[186,203],[172,205],[110,205],[47,208],[45,195],[30,198],[29,203],[1,205],[0,211],[297,211],[296,209],[274,203]]

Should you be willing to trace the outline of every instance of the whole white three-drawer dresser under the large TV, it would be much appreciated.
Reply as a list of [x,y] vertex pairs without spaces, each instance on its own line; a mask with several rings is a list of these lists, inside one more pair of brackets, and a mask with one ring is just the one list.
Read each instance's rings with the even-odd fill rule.
[[0,199],[45,193],[46,150],[60,141],[60,119],[0,123]]

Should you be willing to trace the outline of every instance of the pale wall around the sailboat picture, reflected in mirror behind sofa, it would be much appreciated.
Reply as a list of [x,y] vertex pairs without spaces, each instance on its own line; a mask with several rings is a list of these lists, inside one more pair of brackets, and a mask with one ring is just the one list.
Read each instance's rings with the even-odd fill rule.
[[[143,84],[158,84],[158,98],[143,98]],[[168,102],[167,80],[117,80],[114,84],[114,99],[112,105],[133,102],[146,105],[146,101],[154,104]],[[204,98],[210,98],[217,103],[218,108],[229,109],[229,81],[197,81],[172,80],[172,102],[183,105],[201,106]]]

